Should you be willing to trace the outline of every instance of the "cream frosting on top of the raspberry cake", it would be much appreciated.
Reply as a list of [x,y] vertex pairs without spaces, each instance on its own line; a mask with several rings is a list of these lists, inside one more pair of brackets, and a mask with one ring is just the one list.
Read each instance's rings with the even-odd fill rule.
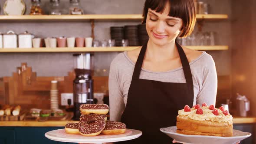
[[184,109],[179,110],[178,114],[181,116],[187,116],[190,119],[197,120],[197,121],[217,121],[217,122],[228,122],[229,124],[233,123],[232,115],[224,115],[222,111],[218,108],[215,108],[219,111],[219,115],[214,115],[212,110],[209,107],[201,107],[203,109],[203,115],[197,115],[195,108],[190,108],[191,111],[184,111]]

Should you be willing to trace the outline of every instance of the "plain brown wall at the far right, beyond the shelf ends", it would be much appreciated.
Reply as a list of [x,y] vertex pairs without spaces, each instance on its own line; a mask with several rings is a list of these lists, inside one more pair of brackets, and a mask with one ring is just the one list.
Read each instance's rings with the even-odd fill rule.
[[251,101],[249,114],[256,116],[256,2],[248,0],[241,6],[240,0],[234,0],[232,6],[232,92],[246,95]]

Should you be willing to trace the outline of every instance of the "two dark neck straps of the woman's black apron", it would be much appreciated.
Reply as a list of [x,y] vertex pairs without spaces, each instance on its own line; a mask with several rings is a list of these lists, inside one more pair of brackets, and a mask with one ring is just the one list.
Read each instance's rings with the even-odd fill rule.
[[[132,79],[139,79],[142,63],[143,63],[144,56],[145,56],[146,49],[147,49],[147,44],[148,43],[144,44],[144,46],[142,46],[142,48],[141,48],[140,54],[139,54],[137,62],[135,64],[135,69],[133,71]],[[193,85],[192,74],[191,74],[189,62],[187,60],[187,56],[185,55],[185,52],[182,49],[181,45],[179,45],[176,41],[175,41],[175,44],[177,46],[177,49],[178,49],[178,52],[180,55],[181,64],[183,67],[186,82],[189,85]]]

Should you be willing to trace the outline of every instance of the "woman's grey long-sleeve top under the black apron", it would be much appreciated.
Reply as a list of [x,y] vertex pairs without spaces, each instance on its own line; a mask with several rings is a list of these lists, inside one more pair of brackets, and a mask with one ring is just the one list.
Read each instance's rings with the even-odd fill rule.
[[[194,83],[193,105],[201,105],[203,102],[206,102],[207,105],[215,105],[217,72],[212,56],[202,52],[197,59],[194,59],[189,64]],[[121,115],[127,103],[134,68],[135,63],[129,59],[127,52],[118,54],[110,65],[108,80],[110,120],[121,120]],[[139,79],[161,82],[186,82],[182,67],[167,72],[151,72],[142,68]]]

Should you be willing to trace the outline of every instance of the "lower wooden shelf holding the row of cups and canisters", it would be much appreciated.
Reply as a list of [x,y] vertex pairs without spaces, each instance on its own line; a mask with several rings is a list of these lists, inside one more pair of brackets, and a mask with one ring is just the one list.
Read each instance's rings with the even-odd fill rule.
[[[228,50],[228,46],[186,46],[195,50]],[[123,52],[138,48],[128,47],[76,47],[76,48],[32,48],[32,49],[0,49],[0,52]]]

